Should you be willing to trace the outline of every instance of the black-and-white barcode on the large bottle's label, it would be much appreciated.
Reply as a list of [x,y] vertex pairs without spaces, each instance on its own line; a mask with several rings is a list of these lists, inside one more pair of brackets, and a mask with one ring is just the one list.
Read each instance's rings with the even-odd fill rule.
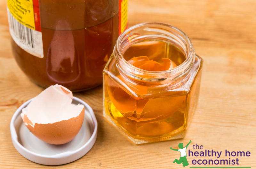
[[20,42],[29,45],[32,48],[35,48],[34,46],[34,36],[32,29],[22,25],[19,21],[17,21],[12,14],[9,12],[10,16],[10,29],[12,29],[14,35],[20,39]]

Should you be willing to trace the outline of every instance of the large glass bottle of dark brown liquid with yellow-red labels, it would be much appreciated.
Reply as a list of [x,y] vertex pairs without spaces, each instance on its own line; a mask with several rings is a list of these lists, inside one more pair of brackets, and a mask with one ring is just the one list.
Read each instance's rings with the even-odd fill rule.
[[102,84],[102,70],[127,26],[127,1],[7,0],[18,65],[44,88],[58,83],[79,91]]

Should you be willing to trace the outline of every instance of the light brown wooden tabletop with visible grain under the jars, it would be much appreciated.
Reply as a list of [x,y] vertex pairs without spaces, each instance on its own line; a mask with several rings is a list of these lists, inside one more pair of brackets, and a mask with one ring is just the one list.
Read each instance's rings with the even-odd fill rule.
[[[179,143],[194,150],[222,151],[217,157],[187,156],[189,166],[256,168],[256,1],[129,0],[129,26],[158,21],[188,34],[204,59],[199,103],[185,138],[134,145],[102,115],[102,86],[75,93],[94,110],[98,137],[82,158],[65,165],[33,163],[14,148],[10,121],[16,109],[43,88],[28,80],[11,51],[6,2],[0,0],[0,168],[183,168],[173,164]],[[193,165],[193,159],[229,159],[227,151],[250,151],[239,165]],[[188,155],[188,150],[187,150]],[[187,166],[187,168],[189,167]]]

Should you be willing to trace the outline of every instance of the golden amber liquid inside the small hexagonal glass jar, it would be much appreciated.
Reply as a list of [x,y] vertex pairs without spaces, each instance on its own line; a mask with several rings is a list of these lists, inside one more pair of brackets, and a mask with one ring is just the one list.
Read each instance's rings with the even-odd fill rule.
[[[130,46],[124,53],[125,60],[133,57],[147,56],[149,60],[160,62],[162,58],[169,58],[177,66],[186,59],[184,53],[171,43],[161,41],[140,42]],[[120,75],[115,70],[115,59],[110,60],[105,70],[113,73],[104,74],[104,109],[107,118],[111,118],[119,128],[128,132],[130,137],[146,139],[158,136],[183,134],[188,124],[188,111],[194,111],[199,85],[196,85],[197,76],[192,81],[191,90],[182,89],[183,83],[172,87],[172,91],[164,91],[165,87],[158,88],[161,82],[137,83],[131,78]],[[195,64],[200,60],[196,57]],[[121,73],[122,74],[122,73]],[[127,84],[131,91],[118,85],[114,76]],[[120,83],[120,82],[119,82]],[[167,85],[168,86],[168,85]],[[158,94],[159,93],[159,94]],[[137,95],[137,96],[135,96]],[[191,116],[190,112],[189,116]],[[128,136],[129,137],[129,136]],[[154,142],[154,140],[153,140]]]

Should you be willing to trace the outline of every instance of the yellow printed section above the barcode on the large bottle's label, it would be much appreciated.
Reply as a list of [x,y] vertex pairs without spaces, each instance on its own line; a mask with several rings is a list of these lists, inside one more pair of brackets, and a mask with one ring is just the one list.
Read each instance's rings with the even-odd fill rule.
[[12,16],[22,25],[36,30],[33,0],[7,0],[7,7]]

